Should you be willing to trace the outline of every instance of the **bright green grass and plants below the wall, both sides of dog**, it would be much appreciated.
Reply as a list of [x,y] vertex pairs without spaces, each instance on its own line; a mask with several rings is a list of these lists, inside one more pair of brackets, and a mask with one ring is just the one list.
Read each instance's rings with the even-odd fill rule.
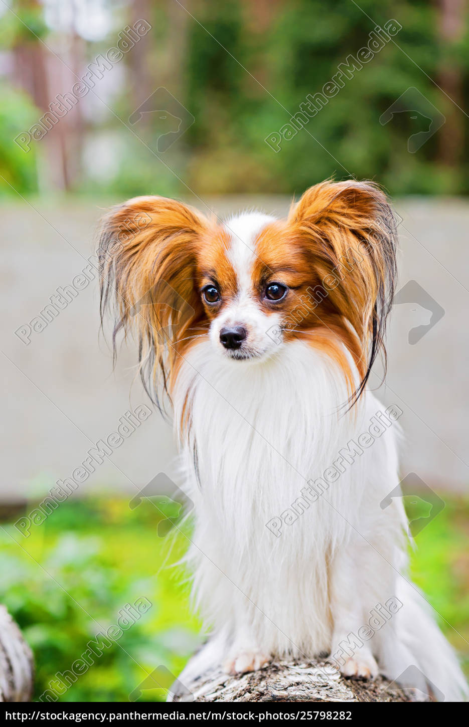
[[[60,688],[60,699],[127,701],[156,667],[175,675],[183,667],[200,632],[189,606],[187,574],[177,566],[188,541],[175,529],[159,537],[158,522],[151,502],[129,510],[127,500],[106,497],[64,502],[28,538],[11,519],[3,524],[0,600],[33,648],[36,699],[138,598],[151,602],[148,611],[95,656],[86,672],[82,668],[71,686]],[[468,532],[469,501],[447,500],[417,536],[411,571],[469,672]],[[155,690],[144,698],[164,696]]]

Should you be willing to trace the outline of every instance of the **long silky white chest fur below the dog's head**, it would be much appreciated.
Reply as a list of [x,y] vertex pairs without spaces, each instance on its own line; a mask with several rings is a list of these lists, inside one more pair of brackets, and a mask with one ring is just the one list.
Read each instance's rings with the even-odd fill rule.
[[347,400],[334,364],[302,342],[257,363],[217,358],[204,342],[183,364],[174,403],[175,421],[185,401],[191,411],[183,457],[194,583],[216,628],[249,622],[270,651],[328,650],[329,565],[360,523],[369,470],[389,449],[377,443],[352,466],[342,462],[326,491],[305,499],[380,409],[367,395],[347,413]]

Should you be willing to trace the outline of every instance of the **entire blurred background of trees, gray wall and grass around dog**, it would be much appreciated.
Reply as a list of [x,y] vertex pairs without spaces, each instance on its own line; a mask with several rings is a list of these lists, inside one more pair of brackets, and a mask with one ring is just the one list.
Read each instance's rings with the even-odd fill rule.
[[469,662],[468,50],[466,0],[0,0],[0,600],[36,699],[127,700],[200,639],[170,424],[137,417],[135,348],[113,371],[98,336],[100,216],[139,194],[284,214],[326,177],[393,198],[398,293],[371,383],[404,412],[412,575]]

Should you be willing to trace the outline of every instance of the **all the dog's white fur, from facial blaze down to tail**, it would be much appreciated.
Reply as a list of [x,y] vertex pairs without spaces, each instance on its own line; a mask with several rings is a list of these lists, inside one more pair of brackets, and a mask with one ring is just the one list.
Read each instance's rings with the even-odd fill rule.
[[[444,699],[463,699],[467,686],[452,648],[406,576],[401,501],[380,507],[398,484],[396,424],[280,537],[266,527],[384,411],[369,391],[347,411],[345,377],[332,360],[312,345],[268,336],[273,318],[247,282],[254,236],[266,222],[252,214],[228,223],[240,294],[212,322],[209,339],[189,351],[173,398],[175,422],[190,404],[189,435],[177,435],[195,505],[193,593],[212,630],[181,680],[213,662],[243,670],[264,656],[334,653],[372,608],[396,598],[402,607],[353,654],[350,673],[374,675],[379,667],[396,679],[414,666]],[[223,350],[227,323],[246,327],[250,361]],[[424,683],[409,686],[425,691]]]

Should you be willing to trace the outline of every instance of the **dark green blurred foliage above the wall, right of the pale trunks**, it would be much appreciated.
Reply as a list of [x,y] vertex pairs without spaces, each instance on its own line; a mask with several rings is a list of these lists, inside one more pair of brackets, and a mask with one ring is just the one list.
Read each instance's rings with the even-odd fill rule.
[[[441,113],[454,110],[431,80],[438,79],[447,52],[439,38],[436,7],[414,0],[361,0],[358,5],[350,0],[281,3],[262,32],[252,23],[246,33],[247,18],[239,17],[246,4],[236,6],[237,12],[225,5],[207,8],[199,17],[209,32],[200,25],[191,27],[188,105],[196,124],[188,133],[195,147],[194,181],[204,190],[210,190],[217,172],[222,192],[298,193],[330,175],[350,174],[374,178],[395,194],[467,192],[462,149],[457,168],[450,167],[438,160],[438,132],[417,153],[407,150],[409,136],[426,129],[424,120],[408,113],[396,115],[386,126],[379,122],[409,87],[416,87]],[[375,25],[390,18],[398,20],[401,31],[304,129],[282,142],[278,153],[262,142],[300,111],[308,94],[321,92],[348,55],[356,57]],[[452,48],[452,64],[467,80],[467,26],[460,44]],[[467,129],[467,116],[456,111]]]

